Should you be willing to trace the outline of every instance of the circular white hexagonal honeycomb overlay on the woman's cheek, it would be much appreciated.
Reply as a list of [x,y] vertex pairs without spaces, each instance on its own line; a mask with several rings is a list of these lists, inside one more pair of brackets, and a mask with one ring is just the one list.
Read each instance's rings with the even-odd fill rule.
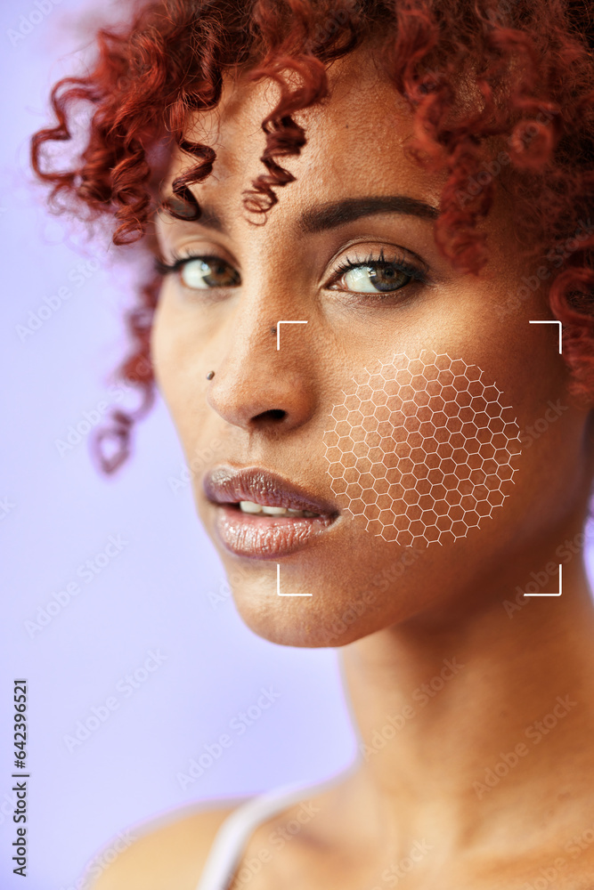
[[517,473],[520,430],[501,395],[480,368],[446,353],[366,368],[323,435],[338,506],[402,546],[464,538],[503,504]]

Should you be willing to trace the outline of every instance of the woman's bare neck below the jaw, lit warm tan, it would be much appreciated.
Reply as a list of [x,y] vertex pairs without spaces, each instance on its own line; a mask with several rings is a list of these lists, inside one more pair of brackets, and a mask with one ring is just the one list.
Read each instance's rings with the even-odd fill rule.
[[[480,609],[467,600],[342,650],[362,751],[358,805],[393,853],[425,841],[460,855],[487,839],[509,850],[529,843],[531,826],[557,849],[576,820],[594,822],[594,611],[582,554],[564,565],[561,596],[516,602],[509,577],[488,587],[474,598],[486,600]],[[540,588],[557,589],[557,574]]]

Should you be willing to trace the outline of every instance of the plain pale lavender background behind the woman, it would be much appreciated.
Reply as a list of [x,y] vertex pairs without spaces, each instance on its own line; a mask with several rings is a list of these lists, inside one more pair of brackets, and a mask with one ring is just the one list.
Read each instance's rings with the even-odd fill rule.
[[[50,86],[72,70],[72,53],[85,44],[72,21],[88,9],[79,0],[38,4],[4,4],[0,12],[0,499],[12,505],[0,511],[3,890],[22,886],[11,862],[13,677],[28,678],[28,890],[76,887],[85,862],[110,838],[175,807],[321,781],[356,754],[336,651],[266,643],[244,627],[228,596],[209,601],[208,593],[224,596],[228,588],[190,486],[172,490],[183,456],[162,403],[140,426],[133,460],[115,479],[94,470],[88,437],[62,455],[56,446],[85,412],[110,400],[133,271],[110,271],[100,241],[83,252],[72,245],[67,223],[46,214],[31,184],[28,138],[48,121]],[[88,278],[79,286],[80,263]],[[61,287],[69,287],[69,299],[21,339],[17,326]],[[77,567],[101,554],[110,536],[126,541],[121,552],[90,583],[77,578]],[[80,593],[29,633],[26,622],[75,578]],[[167,659],[126,698],[117,684],[151,650]],[[183,790],[176,773],[228,732],[263,686],[280,698]],[[64,736],[110,696],[118,709],[70,752]]]

